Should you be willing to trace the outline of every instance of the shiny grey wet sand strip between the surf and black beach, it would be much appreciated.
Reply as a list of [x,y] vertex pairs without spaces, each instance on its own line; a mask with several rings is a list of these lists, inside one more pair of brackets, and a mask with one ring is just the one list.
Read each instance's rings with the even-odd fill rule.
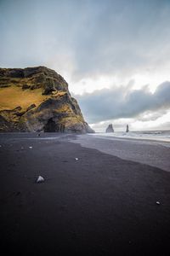
[[118,137],[102,137],[96,135],[78,135],[71,139],[82,147],[118,156],[123,160],[133,160],[141,164],[158,167],[170,172],[170,143]]

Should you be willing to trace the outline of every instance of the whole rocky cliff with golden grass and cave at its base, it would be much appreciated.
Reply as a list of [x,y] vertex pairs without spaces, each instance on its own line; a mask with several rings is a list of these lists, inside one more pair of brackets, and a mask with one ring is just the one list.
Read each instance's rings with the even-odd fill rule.
[[94,132],[65,79],[47,67],[0,68],[0,131]]

